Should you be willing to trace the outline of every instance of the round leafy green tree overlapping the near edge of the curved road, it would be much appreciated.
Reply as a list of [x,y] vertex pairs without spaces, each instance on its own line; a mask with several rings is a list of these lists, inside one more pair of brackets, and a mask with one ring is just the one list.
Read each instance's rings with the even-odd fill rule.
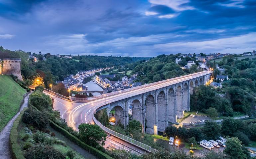
[[80,124],[78,129],[79,138],[85,143],[93,147],[105,145],[107,134],[98,125]]

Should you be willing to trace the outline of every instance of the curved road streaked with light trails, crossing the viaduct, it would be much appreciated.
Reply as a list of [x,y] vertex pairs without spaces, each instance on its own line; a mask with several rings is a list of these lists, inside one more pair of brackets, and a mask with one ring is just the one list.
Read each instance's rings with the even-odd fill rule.
[[[168,80],[165,80],[162,82],[158,82],[156,84],[144,85],[140,88],[135,87],[134,89],[132,89],[129,92],[122,92],[122,93],[119,93],[116,95],[105,94],[105,95],[103,95],[103,96],[105,96],[104,98],[92,100],[92,101],[89,101],[86,103],[71,102],[71,101],[67,101],[65,99],[61,99],[59,97],[54,96],[54,99],[55,99],[54,109],[59,110],[61,112],[62,118],[64,118],[66,120],[66,122],[68,123],[69,126],[73,127],[75,130],[78,130],[78,126],[82,123],[93,124],[94,123],[93,119],[92,119],[93,112],[95,112],[95,110],[97,108],[99,108],[105,104],[108,104],[108,103],[111,103],[114,101],[118,101],[121,99],[126,99],[129,97],[133,97],[136,95],[140,95],[145,92],[154,91],[159,88],[167,87],[167,86],[170,86],[173,84],[177,84],[177,83],[180,83],[183,81],[190,80],[192,78],[197,78],[197,77],[200,77],[203,75],[208,75],[211,73],[212,73],[211,71],[203,71],[203,72],[194,73],[194,74],[190,74],[190,75],[186,75],[186,76],[168,79]],[[50,96],[52,96],[52,95],[50,95]],[[130,143],[124,142],[118,138],[115,138],[113,136],[109,136],[109,138],[107,138],[105,147],[108,145],[113,145],[117,148],[120,146],[121,147],[124,146],[125,149],[129,149],[129,147],[130,147],[139,153],[145,153],[144,150],[142,150]]]

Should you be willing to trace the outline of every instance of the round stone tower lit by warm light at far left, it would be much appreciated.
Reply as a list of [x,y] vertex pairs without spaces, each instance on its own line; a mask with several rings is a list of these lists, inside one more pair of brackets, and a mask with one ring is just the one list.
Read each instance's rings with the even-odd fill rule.
[[21,59],[0,59],[0,74],[13,74],[22,81],[20,62]]

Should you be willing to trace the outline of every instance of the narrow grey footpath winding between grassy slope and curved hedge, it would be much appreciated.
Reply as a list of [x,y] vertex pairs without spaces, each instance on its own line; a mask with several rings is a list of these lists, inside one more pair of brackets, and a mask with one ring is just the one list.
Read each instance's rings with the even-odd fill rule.
[[10,151],[10,130],[12,128],[13,122],[18,117],[20,112],[23,110],[24,107],[28,106],[28,100],[29,100],[28,94],[24,98],[24,102],[20,107],[19,112],[7,123],[7,125],[4,127],[4,129],[0,133],[0,158],[1,159],[11,159],[11,151]]

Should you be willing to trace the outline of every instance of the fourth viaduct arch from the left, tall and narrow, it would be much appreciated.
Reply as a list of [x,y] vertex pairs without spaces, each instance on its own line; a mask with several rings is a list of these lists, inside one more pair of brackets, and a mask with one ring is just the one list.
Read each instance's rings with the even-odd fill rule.
[[157,117],[158,131],[164,132],[166,121],[166,99],[164,91],[159,92],[157,96]]

